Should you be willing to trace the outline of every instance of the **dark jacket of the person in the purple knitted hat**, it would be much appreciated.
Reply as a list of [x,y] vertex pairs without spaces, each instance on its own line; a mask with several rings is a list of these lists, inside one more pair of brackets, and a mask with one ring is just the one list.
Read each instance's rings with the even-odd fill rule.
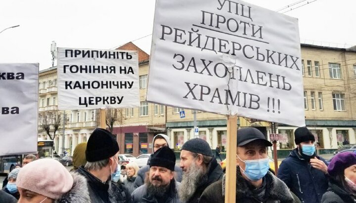
[[329,188],[322,196],[321,203],[356,203],[356,195],[346,192],[340,184],[330,179]]

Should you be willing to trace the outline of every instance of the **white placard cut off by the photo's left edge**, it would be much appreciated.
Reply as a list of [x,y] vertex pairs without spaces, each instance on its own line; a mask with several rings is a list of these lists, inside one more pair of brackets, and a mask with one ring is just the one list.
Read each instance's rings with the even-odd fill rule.
[[37,153],[39,64],[0,64],[0,156]]

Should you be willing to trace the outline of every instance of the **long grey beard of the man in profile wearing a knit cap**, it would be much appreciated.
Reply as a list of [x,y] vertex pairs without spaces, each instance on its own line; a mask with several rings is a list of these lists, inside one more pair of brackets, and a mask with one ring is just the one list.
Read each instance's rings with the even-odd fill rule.
[[188,201],[195,193],[198,186],[207,181],[206,170],[203,167],[192,163],[188,171],[183,173],[182,181],[178,189],[179,199]]

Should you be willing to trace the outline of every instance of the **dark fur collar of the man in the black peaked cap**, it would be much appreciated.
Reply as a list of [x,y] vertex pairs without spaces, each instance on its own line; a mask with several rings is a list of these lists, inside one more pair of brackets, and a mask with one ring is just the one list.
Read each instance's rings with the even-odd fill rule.
[[[293,202],[293,197],[287,185],[274,176],[270,171],[265,176],[266,195],[269,199],[280,200],[281,202]],[[225,196],[225,174],[223,175],[223,196]],[[250,191],[245,178],[240,172],[240,167],[236,167],[236,199],[249,197]]]

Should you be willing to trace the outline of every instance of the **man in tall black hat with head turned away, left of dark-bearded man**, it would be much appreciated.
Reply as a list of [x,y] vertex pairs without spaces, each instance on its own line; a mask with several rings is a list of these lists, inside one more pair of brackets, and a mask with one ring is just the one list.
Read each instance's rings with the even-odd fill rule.
[[91,133],[86,149],[87,163],[77,171],[88,181],[92,203],[131,203],[129,192],[118,182],[118,154],[119,145],[109,131],[96,128]]

